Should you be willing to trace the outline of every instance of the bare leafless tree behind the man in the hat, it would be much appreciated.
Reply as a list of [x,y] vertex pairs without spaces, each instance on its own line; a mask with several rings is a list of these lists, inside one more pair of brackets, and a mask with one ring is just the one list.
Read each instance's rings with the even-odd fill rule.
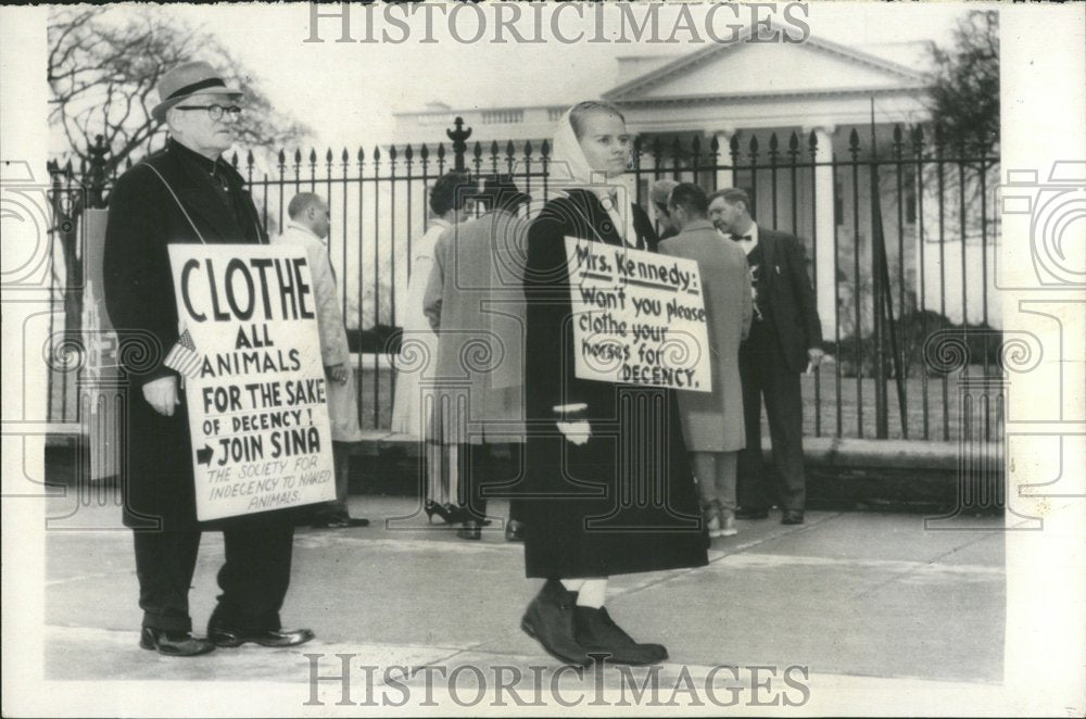
[[[48,42],[50,154],[59,161],[58,166],[65,160],[76,160],[80,165],[77,172],[87,174],[73,173],[72,179],[88,188],[88,202],[93,204],[102,200],[104,178],[140,160],[153,140],[164,136],[162,123],[151,116],[159,80],[167,70],[187,60],[207,60],[245,93],[254,111],[239,123],[241,141],[268,147],[310,134],[303,125],[273,112],[270,101],[250,79],[252,73],[240,66],[214,36],[177,21],[164,7],[54,7],[50,11]],[[98,137],[105,146],[101,159]],[[73,220],[75,227],[84,198],[65,206],[54,204],[58,217]],[[56,237],[66,270],[58,285],[66,288],[65,318],[71,329],[81,318],[81,291],[74,278],[83,276],[83,255],[76,231]]]

